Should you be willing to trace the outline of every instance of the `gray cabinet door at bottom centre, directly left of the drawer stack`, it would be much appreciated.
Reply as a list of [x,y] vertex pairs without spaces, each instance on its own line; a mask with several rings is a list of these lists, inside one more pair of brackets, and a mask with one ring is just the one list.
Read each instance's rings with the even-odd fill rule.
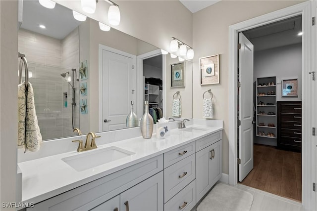
[[162,171],[120,194],[120,211],[162,210]]

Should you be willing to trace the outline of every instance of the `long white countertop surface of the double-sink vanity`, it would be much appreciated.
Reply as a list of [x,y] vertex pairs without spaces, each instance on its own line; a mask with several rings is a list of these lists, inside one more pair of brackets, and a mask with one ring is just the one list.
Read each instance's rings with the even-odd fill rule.
[[[19,163],[18,166],[22,171],[22,202],[39,203],[223,129],[222,126],[191,125],[190,127],[200,127],[206,130],[172,129],[170,136],[166,136],[164,139],[157,139],[154,134],[151,139],[144,139],[141,136],[100,145],[93,150],[115,146],[135,154],[83,171],[77,171],[61,160],[78,155],[77,151]],[[93,150],[80,153],[88,153]]]

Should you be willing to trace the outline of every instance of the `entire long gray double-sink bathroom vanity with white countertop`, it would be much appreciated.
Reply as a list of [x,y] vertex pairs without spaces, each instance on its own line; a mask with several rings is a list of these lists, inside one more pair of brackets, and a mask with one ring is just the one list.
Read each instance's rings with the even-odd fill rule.
[[[222,121],[169,124],[174,129],[164,139],[96,139],[94,150],[19,163],[22,202],[35,204],[26,210],[190,211],[221,178]],[[98,164],[104,154],[107,163]]]

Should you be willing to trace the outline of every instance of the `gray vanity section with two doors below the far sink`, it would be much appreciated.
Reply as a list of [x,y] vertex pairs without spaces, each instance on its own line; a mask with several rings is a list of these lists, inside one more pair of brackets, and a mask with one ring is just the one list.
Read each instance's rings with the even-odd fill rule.
[[[210,144],[216,142],[196,152],[196,202],[199,202],[208,193],[222,175],[222,141],[211,136],[206,138],[209,138]],[[199,140],[196,145],[198,143]]]

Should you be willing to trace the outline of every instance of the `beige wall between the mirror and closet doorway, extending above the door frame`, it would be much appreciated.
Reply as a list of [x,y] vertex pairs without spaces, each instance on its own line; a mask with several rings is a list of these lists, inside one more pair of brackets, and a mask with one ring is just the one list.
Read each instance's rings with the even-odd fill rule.
[[[213,93],[214,119],[223,120],[222,171],[229,172],[228,124],[229,124],[229,26],[281,9],[300,0],[222,0],[193,14],[193,110],[194,118],[202,118],[202,94],[211,88]],[[220,54],[220,84],[199,84],[199,58]]]

